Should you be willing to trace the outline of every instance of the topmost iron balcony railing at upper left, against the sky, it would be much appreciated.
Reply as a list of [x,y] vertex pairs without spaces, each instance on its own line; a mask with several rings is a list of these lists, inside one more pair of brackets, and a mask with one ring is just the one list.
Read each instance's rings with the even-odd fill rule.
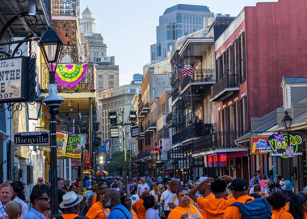
[[52,15],[79,17],[79,0],[52,0]]

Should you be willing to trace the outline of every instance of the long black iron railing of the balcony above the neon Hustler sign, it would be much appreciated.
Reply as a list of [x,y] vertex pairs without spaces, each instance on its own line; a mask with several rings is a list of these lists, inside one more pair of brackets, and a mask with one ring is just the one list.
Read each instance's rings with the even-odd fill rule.
[[212,149],[239,148],[235,140],[247,131],[217,131],[193,142],[193,153]]

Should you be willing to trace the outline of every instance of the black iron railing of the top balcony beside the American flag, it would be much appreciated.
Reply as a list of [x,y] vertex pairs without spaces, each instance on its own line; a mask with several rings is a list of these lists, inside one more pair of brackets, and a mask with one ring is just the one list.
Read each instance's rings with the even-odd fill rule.
[[184,76],[181,81],[181,88],[187,86],[190,82],[208,82],[215,81],[214,69],[196,69],[192,77]]

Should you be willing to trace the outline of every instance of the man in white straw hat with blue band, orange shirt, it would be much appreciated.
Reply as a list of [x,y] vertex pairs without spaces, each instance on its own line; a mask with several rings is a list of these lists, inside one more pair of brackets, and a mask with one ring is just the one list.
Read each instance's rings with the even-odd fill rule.
[[[56,216],[53,219],[74,219],[79,217],[80,202],[83,200],[82,195],[76,195],[74,191],[63,195],[63,201],[60,203],[60,208],[65,209],[65,214]],[[84,217],[81,217],[84,218]]]

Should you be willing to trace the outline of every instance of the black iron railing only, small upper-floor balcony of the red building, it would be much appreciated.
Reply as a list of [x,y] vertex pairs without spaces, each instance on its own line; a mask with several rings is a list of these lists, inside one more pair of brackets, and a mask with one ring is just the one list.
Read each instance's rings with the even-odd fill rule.
[[214,97],[223,91],[225,88],[235,88],[239,85],[239,75],[231,74],[221,78],[216,84],[211,87],[211,96]]

